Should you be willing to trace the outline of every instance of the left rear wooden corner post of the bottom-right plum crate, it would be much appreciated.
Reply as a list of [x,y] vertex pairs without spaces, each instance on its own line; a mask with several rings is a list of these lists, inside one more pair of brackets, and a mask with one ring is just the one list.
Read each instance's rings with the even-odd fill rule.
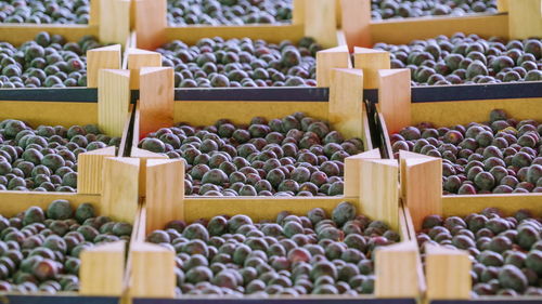
[[402,150],[399,158],[401,198],[417,230],[427,215],[442,214],[442,159]]

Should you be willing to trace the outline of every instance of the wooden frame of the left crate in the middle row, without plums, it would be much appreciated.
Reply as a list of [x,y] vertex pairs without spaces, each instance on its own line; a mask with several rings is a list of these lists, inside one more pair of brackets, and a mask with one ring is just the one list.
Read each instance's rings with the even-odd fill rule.
[[[117,70],[102,70],[108,80]],[[121,71],[120,71],[121,72]],[[102,194],[102,168],[107,157],[124,156],[130,124],[129,77],[117,77],[115,85],[94,89],[33,89],[0,90],[0,120],[17,119],[33,128],[40,124],[72,125],[98,124],[109,136],[121,137],[120,147],[107,147],[78,156],[79,194]],[[125,93],[119,83],[125,82]],[[112,88],[113,87],[113,88]],[[8,94],[9,93],[9,94]],[[131,143],[130,143],[131,144]],[[12,191],[0,191],[0,201]],[[28,193],[21,193],[24,197]],[[33,194],[34,195],[34,194]]]

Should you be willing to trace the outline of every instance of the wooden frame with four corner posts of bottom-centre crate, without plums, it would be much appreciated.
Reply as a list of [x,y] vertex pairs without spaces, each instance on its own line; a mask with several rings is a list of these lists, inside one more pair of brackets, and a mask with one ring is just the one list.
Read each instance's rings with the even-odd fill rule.
[[[190,198],[183,196],[183,189],[177,186],[176,180],[182,179],[183,162],[180,160],[147,160],[146,162],[146,199],[142,208],[139,233],[137,241],[133,242],[130,256],[131,279],[129,283],[129,294],[133,303],[201,303],[211,301],[211,298],[188,298],[175,300],[176,278],[173,274],[175,253],[159,246],[145,243],[145,236],[154,229],[163,228],[171,220],[183,220],[186,223],[198,219],[210,219],[219,214],[246,214],[254,221],[272,220],[281,211],[288,210],[293,214],[306,214],[313,208],[323,208],[331,212],[338,202],[348,200],[358,207],[358,210],[370,215],[372,210],[387,204],[390,210],[395,209],[395,224],[389,215],[382,219],[390,224],[401,234],[402,242],[378,251],[376,256],[376,294],[375,296],[360,298],[331,298],[333,301],[345,302],[366,302],[366,303],[415,303],[415,298],[423,290],[417,269],[421,267],[417,249],[411,241],[409,219],[403,209],[399,206],[397,199],[398,188],[397,172],[391,174],[385,182],[390,185],[383,186],[374,190],[374,196],[388,197],[386,201],[366,200],[360,198]],[[371,163],[367,160],[366,163]],[[396,166],[397,167],[397,166]],[[397,168],[396,168],[397,170]],[[362,172],[365,172],[362,170]],[[393,177],[395,176],[395,181]],[[362,184],[371,184],[372,179],[365,179]],[[395,195],[393,195],[395,193]],[[376,213],[373,213],[376,215]],[[370,215],[371,216],[371,215]],[[378,261],[382,262],[378,263]],[[397,264],[393,262],[397,261]],[[152,267],[150,267],[152,265]],[[401,272],[398,274],[398,268]],[[389,286],[395,288],[389,288]],[[315,301],[318,303],[327,303],[327,298],[306,296],[300,299],[279,298],[276,300],[285,301]],[[275,301],[276,301],[275,300]],[[224,301],[224,299],[221,299]],[[227,299],[230,301],[240,301],[238,299]],[[246,301],[246,300],[243,300]],[[267,301],[255,299],[255,301]],[[272,300],[270,300],[272,301]],[[353,303],[353,302],[352,302]]]

